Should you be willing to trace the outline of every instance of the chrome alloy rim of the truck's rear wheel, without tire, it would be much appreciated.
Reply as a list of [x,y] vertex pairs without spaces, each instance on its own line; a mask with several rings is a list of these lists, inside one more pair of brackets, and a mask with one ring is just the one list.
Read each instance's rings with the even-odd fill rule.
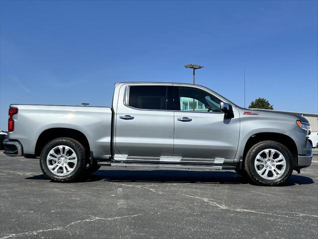
[[46,163],[49,170],[55,175],[66,176],[75,169],[78,157],[69,146],[59,145],[51,149],[46,158]]

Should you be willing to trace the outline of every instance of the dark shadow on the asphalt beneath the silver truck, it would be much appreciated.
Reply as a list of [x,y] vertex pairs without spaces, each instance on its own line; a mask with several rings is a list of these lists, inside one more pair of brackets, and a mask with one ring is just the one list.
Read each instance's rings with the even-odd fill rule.
[[[45,176],[28,177],[31,180],[48,180]],[[157,182],[157,183],[208,183],[208,184],[251,184],[250,181],[232,171],[182,171],[182,170],[98,170],[74,183],[82,182]],[[312,184],[313,179],[292,175],[283,186]]]

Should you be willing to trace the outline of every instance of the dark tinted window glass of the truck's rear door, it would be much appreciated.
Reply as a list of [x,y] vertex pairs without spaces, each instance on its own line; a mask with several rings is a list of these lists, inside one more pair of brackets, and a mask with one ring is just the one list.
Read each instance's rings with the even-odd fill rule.
[[130,86],[128,105],[145,110],[166,110],[166,86]]

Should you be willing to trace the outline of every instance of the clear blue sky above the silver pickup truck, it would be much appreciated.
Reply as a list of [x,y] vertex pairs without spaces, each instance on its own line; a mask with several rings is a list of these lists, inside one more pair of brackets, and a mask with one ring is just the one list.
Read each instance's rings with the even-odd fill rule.
[[318,113],[318,1],[0,2],[0,128],[14,104],[110,106],[115,82],[196,82]]

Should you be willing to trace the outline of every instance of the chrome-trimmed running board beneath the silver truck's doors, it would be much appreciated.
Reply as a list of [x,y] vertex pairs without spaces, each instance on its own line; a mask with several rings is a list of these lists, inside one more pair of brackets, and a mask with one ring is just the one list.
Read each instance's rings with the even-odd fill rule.
[[213,164],[164,164],[164,163],[117,163],[117,162],[98,162],[98,165],[121,166],[121,167],[150,167],[150,168],[183,168],[183,169],[237,169],[237,165],[213,165]]

